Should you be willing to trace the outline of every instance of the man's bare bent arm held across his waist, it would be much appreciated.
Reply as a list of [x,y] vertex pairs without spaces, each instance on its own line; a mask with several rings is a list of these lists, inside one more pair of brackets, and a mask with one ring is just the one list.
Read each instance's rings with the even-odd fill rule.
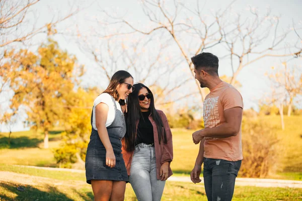
[[198,144],[204,137],[228,138],[236,136],[240,131],[242,108],[235,107],[223,112],[225,122],[214,128],[207,128],[193,133],[193,141]]

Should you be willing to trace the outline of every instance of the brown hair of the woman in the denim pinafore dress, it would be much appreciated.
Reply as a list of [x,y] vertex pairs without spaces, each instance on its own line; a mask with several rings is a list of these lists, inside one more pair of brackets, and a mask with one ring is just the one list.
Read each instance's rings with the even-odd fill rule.
[[116,89],[117,85],[123,83],[125,79],[127,79],[128,77],[132,77],[132,75],[127,71],[125,70],[116,71],[112,75],[109,85],[107,86],[106,90],[103,91],[103,93],[109,93],[112,97],[114,97],[115,100],[118,100],[119,94]]

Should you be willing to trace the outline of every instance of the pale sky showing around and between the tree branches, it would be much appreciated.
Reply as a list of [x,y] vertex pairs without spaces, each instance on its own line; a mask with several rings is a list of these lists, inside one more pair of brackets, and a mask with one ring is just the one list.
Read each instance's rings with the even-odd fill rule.
[[[165,1],[165,5],[167,8],[173,7],[173,2],[171,0]],[[186,0],[179,1],[185,3],[187,7],[194,8],[196,5],[196,1]],[[205,16],[211,15],[213,11],[217,11],[218,9],[226,8],[231,1],[226,0],[216,0],[216,1],[199,1],[199,4],[202,5],[202,13]],[[97,85],[101,87],[105,87],[107,81],[103,81],[100,79],[101,76],[97,73],[96,64],[92,61],[92,58],[83,50],[83,48],[79,47],[78,41],[75,39],[77,37],[77,33],[80,31],[84,34],[89,34],[91,30],[96,30],[99,27],[94,21],[102,21],[104,19],[104,15],[101,10],[106,10],[107,12],[112,12],[112,14],[117,13],[118,15],[124,16],[130,23],[137,25],[137,27],[145,27],[148,24],[147,17],[144,15],[140,1],[136,0],[113,0],[113,1],[92,1],[92,0],[52,0],[52,1],[40,1],[36,4],[32,11],[35,13],[34,16],[30,16],[28,18],[29,22],[35,24],[36,26],[43,25],[49,22],[53,16],[64,16],[66,13],[70,11],[70,5],[73,5],[73,8],[79,7],[81,12],[63,22],[61,22],[56,28],[59,32],[64,32],[67,34],[64,35],[55,35],[53,37],[60,46],[61,49],[68,51],[69,54],[74,54],[77,56],[79,63],[84,64],[86,66],[86,76],[83,78],[83,82],[87,85]],[[280,1],[280,0],[254,0],[254,1],[246,1],[239,0],[235,1],[232,5],[232,9],[234,13],[240,13],[242,17],[248,16],[247,13],[248,7],[256,8],[259,10],[260,15],[265,14],[267,8],[271,9],[271,13],[273,15],[277,15],[281,17],[279,22],[279,27],[283,30],[286,30],[288,26],[292,25],[292,21],[296,24],[297,27],[302,27],[302,1],[299,0],[289,0],[289,1]],[[186,16],[180,16],[180,18],[185,18]],[[190,16],[189,16],[190,17]],[[281,31],[280,29],[280,31]],[[300,31],[300,35],[302,35],[302,31]],[[294,35],[290,35],[292,40],[296,40]],[[46,42],[47,38],[44,35],[38,35],[34,38],[34,43],[39,44],[41,42]],[[185,40],[185,39],[184,39]],[[290,39],[289,39],[290,41]],[[95,41],[95,46],[99,44],[100,41]],[[102,44],[100,44],[102,45]],[[263,45],[266,45],[265,42]],[[94,46],[94,47],[95,47]],[[37,50],[37,45],[31,47],[32,51]],[[213,54],[223,55],[223,49],[219,48],[211,48],[208,51]],[[193,55],[191,55],[193,56]],[[286,58],[285,60],[288,60]],[[264,75],[266,71],[270,69],[271,66],[278,66],[281,62],[283,62],[283,58],[271,58],[266,57],[255,63],[252,63],[243,68],[238,76],[238,81],[242,84],[240,88],[240,92],[243,96],[245,109],[254,108],[258,109],[259,99],[265,96],[270,90],[270,82]],[[292,65],[301,65],[302,60],[299,59],[291,59],[290,64]],[[302,65],[301,65],[302,66]],[[182,72],[179,72],[180,74]],[[223,75],[231,75],[230,61],[220,59],[219,61],[219,74]],[[99,75],[99,76],[96,76]],[[152,79],[152,78],[151,78]],[[134,82],[135,82],[134,77]],[[195,100],[193,101],[194,104]],[[302,108],[302,106],[298,106]],[[7,128],[2,126],[2,130],[5,131]],[[22,123],[18,123],[14,126],[13,131],[23,130]]]

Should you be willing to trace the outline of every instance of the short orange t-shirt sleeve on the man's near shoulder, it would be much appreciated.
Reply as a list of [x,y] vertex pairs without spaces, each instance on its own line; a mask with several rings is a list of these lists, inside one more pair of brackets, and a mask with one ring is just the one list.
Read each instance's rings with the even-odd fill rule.
[[223,111],[240,107],[243,109],[243,100],[240,92],[235,88],[228,88],[223,91],[221,105],[223,107]]

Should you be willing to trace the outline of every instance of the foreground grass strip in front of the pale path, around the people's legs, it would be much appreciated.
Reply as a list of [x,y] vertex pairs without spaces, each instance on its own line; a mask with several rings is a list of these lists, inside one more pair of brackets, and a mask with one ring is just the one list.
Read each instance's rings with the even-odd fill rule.
[[[84,173],[53,171],[0,164],[0,200],[92,200]],[[17,188],[23,187],[24,191]],[[236,186],[233,200],[301,200],[301,188]],[[130,184],[125,200],[136,200]],[[162,200],[207,200],[204,186],[167,181]]]

